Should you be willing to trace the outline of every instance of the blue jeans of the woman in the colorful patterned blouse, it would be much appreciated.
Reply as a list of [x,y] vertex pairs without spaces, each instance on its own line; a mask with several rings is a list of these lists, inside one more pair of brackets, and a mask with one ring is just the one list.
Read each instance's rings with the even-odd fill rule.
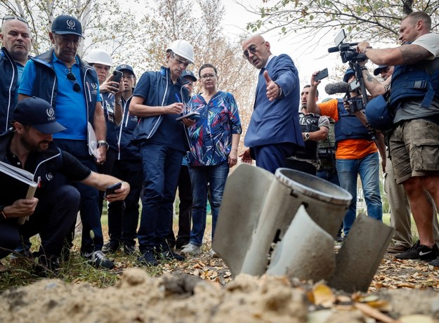
[[212,241],[216,221],[218,220],[219,207],[223,200],[225,180],[229,173],[227,162],[216,166],[190,166],[190,180],[192,182],[192,230],[190,231],[190,243],[201,246],[207,218],[207,183],[210,184],[211,210],[212,210]]

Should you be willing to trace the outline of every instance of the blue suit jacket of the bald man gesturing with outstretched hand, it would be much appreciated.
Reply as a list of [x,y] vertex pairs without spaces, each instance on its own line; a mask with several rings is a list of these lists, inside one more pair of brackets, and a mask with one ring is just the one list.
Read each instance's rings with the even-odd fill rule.
[[[254,111],[244,138],[247,147],[294,143],[303,146],[299,124],[299,74],[288,55],[273,57],[266,70],[282,89],[282,97],[270,101],[266,95],[266,80],[259,74]],[[262,72],[262,70],[261,70]]]

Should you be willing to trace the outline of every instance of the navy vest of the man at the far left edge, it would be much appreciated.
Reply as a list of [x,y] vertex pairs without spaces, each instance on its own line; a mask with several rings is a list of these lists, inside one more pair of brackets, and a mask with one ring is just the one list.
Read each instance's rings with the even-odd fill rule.
[[11,120],[9,116],[15,105],[17,88],[17,66],[6,48],[0,53],[0,133],[8,130]]

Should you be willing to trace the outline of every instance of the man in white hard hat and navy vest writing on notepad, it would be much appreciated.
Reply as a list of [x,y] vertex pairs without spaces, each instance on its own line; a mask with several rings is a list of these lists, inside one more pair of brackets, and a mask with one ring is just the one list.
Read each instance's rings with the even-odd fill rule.
[[[166,67],[145,72],[140,77],[129,106],[140,117],[134,142],[140,146],[143,164],[143,203],[138,229],[140,263],[158,265],[157,259],[184,257],[174,253],[166,242],[172,220],[178,173],[188,150],[185,126],[190,119],[177,121],[188,103],[183,71],[194,62],[192,45],[183,39],[166,48]],[[157,258],[156,258],[157,256]]]

